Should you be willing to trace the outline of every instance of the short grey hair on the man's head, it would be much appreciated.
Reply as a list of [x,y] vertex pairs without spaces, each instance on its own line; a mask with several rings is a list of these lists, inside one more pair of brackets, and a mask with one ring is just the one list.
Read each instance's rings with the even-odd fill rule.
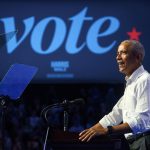
[[121,44],[127,45],[129,48],[131,48],[131,50],[134,53],[141,54],[142,55],[142,60],[141,61],[143,61],[144,56],[145,56],[145,49],[144,49],[144,46],[139,41],[124,40],[124,41],[121,42]]

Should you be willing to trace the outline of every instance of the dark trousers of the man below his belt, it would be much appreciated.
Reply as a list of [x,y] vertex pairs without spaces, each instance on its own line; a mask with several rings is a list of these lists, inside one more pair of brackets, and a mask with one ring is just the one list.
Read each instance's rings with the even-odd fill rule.
[[150,135],[128,141],[130,150],[150,150]]

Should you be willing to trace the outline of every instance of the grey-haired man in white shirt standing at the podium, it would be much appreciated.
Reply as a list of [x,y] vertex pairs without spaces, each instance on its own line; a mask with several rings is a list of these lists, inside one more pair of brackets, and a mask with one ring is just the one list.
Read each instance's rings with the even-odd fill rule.
[[125,74],[126,88],[112,111],[97,124],[79,134],[89,141],[98,135],[123,133],[130,150],[150,150],[150,74],[144,70],[143,45],[134,40],[121,42],[116,60]]

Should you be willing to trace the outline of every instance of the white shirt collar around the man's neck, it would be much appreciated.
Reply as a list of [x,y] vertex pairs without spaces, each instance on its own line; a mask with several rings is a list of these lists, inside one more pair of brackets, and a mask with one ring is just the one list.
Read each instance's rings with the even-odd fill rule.
[[135,81],[141,74],[144,72],[144,67],[141,65],[139,68],[137,68],[132,75],[128,78],[127,76],[125,77],[125,80],[129,83]]

